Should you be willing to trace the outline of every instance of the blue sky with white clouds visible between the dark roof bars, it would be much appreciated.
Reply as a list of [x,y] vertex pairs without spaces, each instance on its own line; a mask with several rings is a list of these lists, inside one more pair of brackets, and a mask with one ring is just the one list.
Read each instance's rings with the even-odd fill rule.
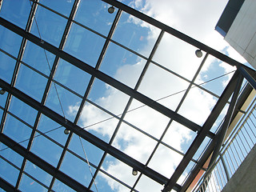
[[[177,2],[166,0],[137,0],[122,2],[158,19],[160,22],[164,22],[169,26],[173,26],[175,29],[181,30],[183,33],[191,35],[208,46],[225,51],[232,58],[244,62],[224,42],[222,36],[214,31],[214,26],[218,22],[218,18],[226,6],[227,1],[213,0],[206,2],[204,0],[197,0]],[[58,47],[67,22],[65,16],[69,16],[74,0],[43,0],[41,3],[50,9],[58,11],[64,17],[50,10],[46,10],[42,6],[38,6],[35,14],[38,27],[34,22],[31,33],[37,35],[39,38],[42,37],[44,41],[50,42]],[[109,14],[107,12],[109,6],[101,1],[82,0],[74,20],[90,28],[90,30],[74,23],[67,37],[64,51],[81,59],[90,66],[96,66],[98,57],[106,41],[106,36],[117,13],[117,10],[115,10],[114,14]],[[25,29],[29,13],[30,2],[28,0],[12,2],[5,0],[2,4],[0,16]],[[118,43],[148,58],[159,33],[160,30],[156,27],[123,13],[99,70],[134,88],[143,67],[146,65],[146,59],[118,46]],[[3,51],[17,58],[21,41],[22,38],[17,34],[0,26],[0,48]],[[194,46],[187,45],[170,34],[164,34],[162,42],[160,42],[152,60],[166,67],[168,70],[182,75],[187,80],[191,80],[200,62],[202,62],[202,58],[195,57],[195,50],[196,48]],[[0,52],[0,78],[8,83],[11,82],[16,63],[10,55],[4,54],[2,51]],[[32,42],[27,42],[22,58],[23,63],[18,71],[15,87],[22,90],[25,94],[30,95],[30,97],[36,99],[38,102],[41,102],[54,58],[54,55],[48,51],[42,50],[42,48],[35,46]],[[206,82],[232,70],[234,68],[217,61],[213,57],[209,57],[201,73],[198,75],[196,83]],[[90,78],[90,74],[86,74],[86,72],[60,59],[54,74],[55,85],[52,83],[50,87],[48,98],[46,99],[46,106],[74,122]],[[214,82],[206,83],[203,87],[220,95],[224,89],[223,84],[228,79],[229,76],[219,78]],[[171,110],[175,110],[184,94],[182,90],[186,90],[188,86],[189,82],[186,80],[170,74],[168,71],[163,70],[151,62],[138,91],[154,100],[166,97],[158,102]],[[77,94],[74,94],[74,92]],[[181,93],[176,94],[178,92]],[[0,106],[2,108],[5,107],[6,95],[1,95]],[[88,98],[90,102],[86,102],[81,117],[78,120],[78,125],[86,127],[86,130],[90,131],[90,133],[95,134],[105,142],[109,142],[115,127],[118,125],[118,119],[112,118],[110,114],[112,113],[120,117],[126,107],[129,96],[114,89],[112,86],[106,85],[105,82],[95,79]],[[178,113],[202,125],[216,101],[217,98],[214,98],[212,95],[198,88],[193,88],[180,110],[178,110]],[[99,109],[98,106],[108,110],[109,113]],[[124,120],[145,131],[147,134],[152,135],[154,138],[160,138],[170,119],[150,109],[148,106],[134,110],[139,106],[143,106],[143,104],[134,99],[129,107],[129,110],[132,111],[126,114]],[[2,108],[0,109],[1,118],[3,113]],[[20,122],[12,115],[7,114],[3,133],[14,139],[15,142],[21,142],[20,144],[26,147],[28,142],[25,140],[30,138],[31,127],[34,126],[37,111],[14,97],[11,99],[9,111],[11,114],[23,119],[26,123]],[[54,130],[54,128],[58,129]],[[34,138],[31,152],[45,159],[46,162],[49,162],[53,166],[57,166],[60,154],[62,154],[62,147],[65,146],[67,138],[67,135],[63,134],[64,128],[50,120],[50,118],[42,115],[38,124],[38,130],[42,133],[53,130],[46,135],[58,142],[58,145],[37,133],[36,135],[38,137]],[[195,133],[193,131],[186,129],[186,127],[180,125],[178,122],[174,122],[163,137],[162,142],[180,150],[182,153],[186,153],[194,137]],[[204,142],[204,145],[206,145],[206,142]],[[86,149],[86,155],[89,161],[95,166],[98,166],[103,151],[83,139],[82,143]],[[138,130],[134,130],[127,123],[122,122],[112,145],[129,154],[132,158],[146,163],[156,143],[154,139],[149,138]],[[23,158],[10,149],[3,150],[6,146],[2,143],[0,145],[0,149],[2,149],[0,154],[2,157],[13,162],[15,166],[20,167]],[[69,150],[73,150],[75,154],[86,158],[77,135],[74,135],[71,139]],[[202,150],[199,150],[194,158],[198,158],[200,151]],[[170,178],[181,159],[182,156],[180,154],[175,153],[161,144],[148,166]],[[19,171],[14,166],[10,166],[2,158],[0,158],[0,161],[2,165],[0,176],[15,186]],[[193,166],[193,163],[190,164],[190,168],[191,166]],[[92,166],[90,167],[94,174],[95,169]],[[70,154],[70,152],[66,152],[60,170],[69,174],[85,186],[88,186],[90,183],[91,174],[88,165],[86,162],[75,157],[74,154]],[[114,177],[122,182],[126,182],[130,186],[134,185],[138,177],[134,177],[131,174],[131,167],[126,166],[123,162],[119,162],[110,155],[106,156],[102,170],[113,174]],[[44,185],[50,185],[52,176],[33,163],[28,162],[26,164],[25,172],[38,179]],[[184,177],[185,175],[182,176],[179,182],[182,182]],[[147,185],[146,183],[149,182],[150,185]],[[126,187],[102,173],[98,174],[96,185],[98,191],[129,191]],[[26,174],[22,177],[20,188],[24,191],[34,191],[34,189],[46,191],[46,188],[38,184],[38,182],[31,180]],[[135,189],[139,191],[159,191],[162,190],[162,186],[150,180],[150,178],[142,176]],[[70,191],[68,186],[57,180],[54,183],[53,190]],[[94,185],[92,186],[92,190],[96,190]]]

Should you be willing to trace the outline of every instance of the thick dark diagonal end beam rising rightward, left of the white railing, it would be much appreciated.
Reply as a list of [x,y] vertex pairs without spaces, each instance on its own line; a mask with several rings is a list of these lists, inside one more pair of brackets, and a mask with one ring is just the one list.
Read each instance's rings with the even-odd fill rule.
[[187,150],[185,156],[182,158],[182,161],[174,171],[174,174],[171,176],[165,188],[162,190],[163,192],[170,191],[174,188],[174,185],[178,181],[178,178],[182,175],[183,171],[186,169],[186,166],[188,166],[188,164],[190,163],[190,160],[191,158],[193,158],[194,154],[198,150],[198,147],[201,145],[204,138],[206,138],[207,132],[209,132],[210,128],[214,125],[214,122],[218,118],[218,115],[221,113],[222,109],[226,105],[226,102],[230,98],[231,94],[233,94],[237,79],[238,71],[236,71],[233,77],[230,79],[229,84],[226,86],[226,89],[223,91],[221,97],[218,99],[218,102],[214,106],[214,109],[211,111],[209,117],[202,126],[202,131],[200,131],[197,137],[194,138],[194,142],[192,142],[189,150]]

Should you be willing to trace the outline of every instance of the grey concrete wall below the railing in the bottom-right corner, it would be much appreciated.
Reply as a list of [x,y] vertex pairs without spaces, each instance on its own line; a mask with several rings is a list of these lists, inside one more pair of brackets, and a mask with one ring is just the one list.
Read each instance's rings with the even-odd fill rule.
[[256,146],[250,151],[222,192],[256,191]]

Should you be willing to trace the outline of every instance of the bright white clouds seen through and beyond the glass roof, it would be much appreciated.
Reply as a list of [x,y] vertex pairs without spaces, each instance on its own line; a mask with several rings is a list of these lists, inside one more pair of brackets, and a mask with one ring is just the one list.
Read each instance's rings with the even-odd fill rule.
[[[208,46],[213,46],[217,50],[223,50],[227,44],[222,39],[222,36],[214,31],[214,26],[218,22],[218,18],[226,6],[226,2],[227,0],[146,0],[145,6],[142,7],[144,4],[142,0],[139,0],[135,1],[132,5],[137,6],[142,12],[149,14],[159,21],[164,22],[169,26],[173,26],[193,38],[197,38],[200,42],[205,42]],[[134,22],[136,25],[141,25],[142,27],[149,27],[145,22],[139,22],[132,17],[130,17],[130,22]],[[158,32],[156,32],[153,27],[150,27],[150,30],[148,43],[152,44]],[[145,52],[148,52],[147,47],[148,46],[146,45]],[[194,46],[187,45],[177,38],[170,36],[170,34],[165,34],[161,44],[158,46],[154,61],[161,63],[168,69],[174,70],[174,72],[182,74],[182,76],[191,80],[202,61],[202,58],[195,57],[195,50],[196,48]],[[228,49],[228,51],[230,54],[234,54],[232,50]],[[204,70],[207,70],[207,66],[210,66],[210,63],[213,61],[214,58],[210,58],[209,62],[206,63]],[[226,64],[226,66],[223,64],[223,67],[225,67],[226,70],[230,70],[228,64]],[[133,65],[122,66],[117,69],[115,78],[128,85],[133,85],[133,77],[137,77],[135,80],[138,79],[138,74],[136,74],[136,72],[141,71],[138,70],[141,68],[142,64],[139,61]],[[129,73],[127,73],[128,71]],[[170,74],[157,66],[150,65],[138,91],[156,100],[178,91],[185,90],[188,85],[188,82],[175,77],[173,74]],[[163,99],[159,102],[162,105],[175,110],[183,94],[178,94],[175,97]],[[115,114],[118,114],[119,111],[124,109],[126,102],[127,98],[110,86],[106,90],[105,97],[98,98],[97,100],[99,105],[106,107],[106,109]],[[205,94],[201,90],[193,89],[179,113],[198,124],[202,124],[202,122],[206,120],[207,115],[210,114],[211,107],[215,102],[215,99],[210,96],[210,94]],[[130,110],[137,106],[142,106],[142,103],[137,101],[132,102]],[[70,107],[70,110],[72,110],[72,107]],[[109,115],[97,110],[94,106],[86,104],[86,107],[82,112],[81,121],[83,126],[88,126],[109,117]],[[163,130],[169,122],[169,118],[166,118],[147,106],[129,112],[126,114],[125,120],[134,126],[138,126],[155,138],[161,137]],[[110,138],[116,126],[117,120],[106,121],[104,124],[99,123],[95,126],[88,127],[88,129],[95,130],[99,134]],[[163,141],[177,150],[182,151],[184,150],[182,148],[182,143],[190,142],[190,139],[193,137],[194,135],[191,134],[190,130],[184,129],[182,125],[174,122],[167,131]],[[153,139],[146,137],[144,134],[139,133],[138,130],[134,130],[124,123],[122,123],[114,140],[115,147],[123,150],[126,154],[129,154],[131,157],[143,163],[146,163],[155,145],[156,142]],[[149,166],[165,175],[167,178],[170,178],[181,159],[181,155],[175,154],[166,146],[160,146],[152,158],[152,161],[150,161]],[[127,182],[130,186],[133,185],[136,177],[131,175],[132,168],[124,165],[124,163],[114,161],[103,168],[121,181]],[[112,179],[105,176],[102,177],[106,178],[106,181],[109,183],[112,190],[124,191],[123,187],[116,184],[116,182],[113,182]],[[141,181],[138,182],[136,189],[139,191],[159,191],[162,190],[162,186],[157,183],[149,184],[148,178],[142,177]]]

